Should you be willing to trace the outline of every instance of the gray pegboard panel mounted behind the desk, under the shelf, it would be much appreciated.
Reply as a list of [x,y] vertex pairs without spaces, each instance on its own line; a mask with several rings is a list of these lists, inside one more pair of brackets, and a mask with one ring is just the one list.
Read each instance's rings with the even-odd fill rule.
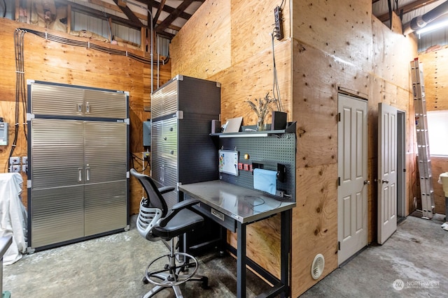
[[[239,163],[260,164],[265,170],[277,170],[277,164],[286,167],[283,182],[277,179],[277,190],[284,191],[284,199],[295,202],[295,133],[267,137],[229,137],[219,139],[219,148],[237,150]],[[245,159],[245,156],[248,156]],[[220,173],[220,179],[230,184],[253,189],[253,174],[239,170],[238,176]]]

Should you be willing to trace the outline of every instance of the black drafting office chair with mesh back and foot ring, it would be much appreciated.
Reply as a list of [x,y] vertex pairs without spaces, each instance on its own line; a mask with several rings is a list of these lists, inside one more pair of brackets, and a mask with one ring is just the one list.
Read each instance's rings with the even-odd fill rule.
[[[190,208],[198,200],[186,200],[175,204],[168,210],[162,194],[174,191],[174,187],[157,188],[151,177],[130,170],[146,192],[146,198],[140,202],[137,230],[141,237],[149,241],[169,241],[170,252],[150,262],[146,267],[144,283],[155,285],[144,298],[153,297],[165,288],[173,288],[176,297],[183,297],[179,285],[187,281],[201,281],[202,288],[208,288],[209,279],[206,276],[195,276],[197,260],[188,253],[176,252],[174,238],[200,228],[204,218]],[[193,269],[194,268],[194,269]]]

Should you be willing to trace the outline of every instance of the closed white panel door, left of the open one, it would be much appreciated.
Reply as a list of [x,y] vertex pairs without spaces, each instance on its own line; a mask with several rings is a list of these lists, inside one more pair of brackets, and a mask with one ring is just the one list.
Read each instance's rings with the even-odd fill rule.
[[367,101],[338,96],[339,265],[367,245]]

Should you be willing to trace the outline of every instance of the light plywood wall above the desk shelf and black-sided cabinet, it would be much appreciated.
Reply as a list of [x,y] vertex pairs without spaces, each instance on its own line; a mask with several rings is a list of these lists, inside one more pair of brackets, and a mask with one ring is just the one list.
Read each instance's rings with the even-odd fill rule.
[[[221,83],[223,121],[243,116],[256,124],[244,100],[272,96],[274,7],[260,1],[205,1],[172,40],[172,75],[182,74]],[[290,34],[288,5],[283,9],[283,40],[274,40],[283,107],[290,111]],[[267,119],[270,123],[270,116]]]

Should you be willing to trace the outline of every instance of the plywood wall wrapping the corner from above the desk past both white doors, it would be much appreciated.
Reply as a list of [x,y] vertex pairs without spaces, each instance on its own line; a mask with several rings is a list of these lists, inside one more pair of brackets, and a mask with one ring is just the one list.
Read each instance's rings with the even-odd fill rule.
[[[275,5],[279,3],[261,5],[259,1],[233,0],[229,6],[229,1],[205,1],[172,41],[172,74],[186,72],[183,74],[221,82],[224,119],[242,115],[247,124],[255,122],[244,100],[262,95],[271,84],[272,49],[265,31],[272,24]],[[340,90],[365,98],[368,103],[367,172],[372,181],[367,188],[369,242],[376,241],[377,186],[373,181],[377,178],[378,103],[407,112],[408,201],[415,193],[409,61],[416,55],[416,40],[402,36],[396,26],[394,31],[385,27],[372,17],[371,9],[369,0],[285,1],[286,38],[275,41],[275,53],[288,119],[297,121],[292,297],[317,282],[309,273],[314,255],[323,253],[325,257],[323,276],[337,267],[336,117]],[[221,17],[220,13],[230,17],[230,23],[226,21],[218,27],[214,19]],[[220,32],[222,38],[211,36],[208,26]],[[186,45],[188,54],[182,50]],[[220,55],[216,54],[218,51]],[[407,205],[408,211],[412,209],[411,204]],[[267,243],[262,239],[265,234],[258,230],[275,226],[279,230],[278,224],[273,218],[269,227],[254,225],[251,237],[260,237]],[[260,239],[248,242],[259,246]],[[235,245],[235,235],[230,235],[230,243]],[[272,252],[278,248],[275,242],[269,245]],[[258,252],[250,246],[248,255],[256,255],[256,261],[278,274],[276,265],[270,262],[277,255],[264,248]]]

